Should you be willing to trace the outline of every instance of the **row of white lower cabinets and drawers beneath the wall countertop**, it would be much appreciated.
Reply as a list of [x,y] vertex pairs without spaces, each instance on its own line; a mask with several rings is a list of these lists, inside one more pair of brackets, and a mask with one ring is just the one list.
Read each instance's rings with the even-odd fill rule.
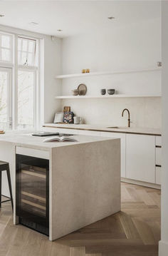
[[44,130],[120,138],[121,177],[147,183],[161,183],[161,136],[65,128],[46,128]]

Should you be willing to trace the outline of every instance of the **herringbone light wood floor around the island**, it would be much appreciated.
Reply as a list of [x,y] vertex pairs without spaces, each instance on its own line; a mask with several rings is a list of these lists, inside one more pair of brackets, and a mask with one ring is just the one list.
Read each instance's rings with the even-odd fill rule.
[[[95,209],[96,210],[96,209]],[[0,256],[156,256],[160,190],[122,183],[122,211],[55,242],[11,220],[0,210]]]

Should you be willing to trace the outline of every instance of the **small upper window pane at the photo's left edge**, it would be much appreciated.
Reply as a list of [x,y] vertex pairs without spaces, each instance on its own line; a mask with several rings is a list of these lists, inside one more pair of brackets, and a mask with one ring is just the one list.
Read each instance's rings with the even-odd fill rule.
[[0,61],[12,62],[12,36],[0,34]]

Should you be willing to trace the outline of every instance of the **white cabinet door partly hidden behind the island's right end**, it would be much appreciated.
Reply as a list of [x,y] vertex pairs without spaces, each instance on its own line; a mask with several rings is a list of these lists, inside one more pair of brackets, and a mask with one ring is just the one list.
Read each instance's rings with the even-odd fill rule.
[[100,136],[120,138],[120,145],[121,145],[121,177],[125,178],[126,177],[126,171],[125,171],[125,133],[100,132]]

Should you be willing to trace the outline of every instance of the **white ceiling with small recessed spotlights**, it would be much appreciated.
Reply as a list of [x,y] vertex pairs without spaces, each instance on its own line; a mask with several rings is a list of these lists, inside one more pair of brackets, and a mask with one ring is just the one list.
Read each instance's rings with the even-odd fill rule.
[[[157,19],[160,1],[0,1],[0,24],[59,36]],[[114,20],[107,19],[115,16]],[[38,23],[33,26],[31,22]],[[57,29],[63,29],[58,32]]]

